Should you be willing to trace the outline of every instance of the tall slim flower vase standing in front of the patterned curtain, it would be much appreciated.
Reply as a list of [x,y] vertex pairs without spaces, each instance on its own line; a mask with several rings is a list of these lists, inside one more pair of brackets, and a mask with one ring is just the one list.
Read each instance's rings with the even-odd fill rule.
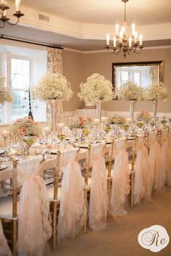
[[57,142],[57,100],[49,100],[51,107],[51,144]]

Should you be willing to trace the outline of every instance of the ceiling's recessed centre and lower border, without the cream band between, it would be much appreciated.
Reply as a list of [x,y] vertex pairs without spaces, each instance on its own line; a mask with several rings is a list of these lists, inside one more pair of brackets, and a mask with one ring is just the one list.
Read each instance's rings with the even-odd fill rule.
[[[80,26],[83,23],[88,23],[89,25],[99,25],[99,28],[102,28],[100,24],[112,26],[117,22],[122,24],[124,10],[124,4],[121,0],[22,0],[22,6],[33,10],[37,9],[39,12],[49,15],[63,17],[69,22],[70,20],[80,22]],[[171,0],[129,0],[126,6],[129,25],[132,22],[135,22],[137,26],[158,23],[160,25],[170,23],[171,25]],[[28,18],[27,15],[28,13],[25,13],[24,17]],[[157,33],[159,32],[157,31]],[[48,29],[41,29],[38,26],[34,28],[30,25],[23,25],[21,22],[15,26],[6,25],[0,30],[0,34],[81,51],[102,50],[105,45],[105,40],[76,38],[57,31],[51,32]],[[157,39],[149,39],[143,44],[144,46],[171,46],[171,36]]]

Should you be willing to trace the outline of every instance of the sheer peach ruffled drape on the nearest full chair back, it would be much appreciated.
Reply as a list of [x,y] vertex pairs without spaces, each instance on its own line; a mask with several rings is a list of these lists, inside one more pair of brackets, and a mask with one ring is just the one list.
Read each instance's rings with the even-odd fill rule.
[[40,176],[42,157],[18,162],[17,176],[22,182],[18,217],[18,255],[48,255],[51,237],[49,197]]

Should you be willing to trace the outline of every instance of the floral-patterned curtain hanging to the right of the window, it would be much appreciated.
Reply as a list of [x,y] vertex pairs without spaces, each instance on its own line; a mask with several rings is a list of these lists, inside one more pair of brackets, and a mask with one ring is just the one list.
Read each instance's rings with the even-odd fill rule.
[[[47,48],[47,72],[63,74],[63,56],[62,49]],[[59,101],[57,106],[57,120],[63,122],[63,102]],[[46,123],[51,124],[50,105],[46,107]]]

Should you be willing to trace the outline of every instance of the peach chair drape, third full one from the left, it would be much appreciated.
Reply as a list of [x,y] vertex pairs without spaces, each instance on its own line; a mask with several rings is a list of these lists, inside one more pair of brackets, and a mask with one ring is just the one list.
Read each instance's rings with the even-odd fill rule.
[[89,207],[89,227],[93,231],[106,228],[107,223],[107,175],[104,161],[104,143],[91,146],[91,196]]

